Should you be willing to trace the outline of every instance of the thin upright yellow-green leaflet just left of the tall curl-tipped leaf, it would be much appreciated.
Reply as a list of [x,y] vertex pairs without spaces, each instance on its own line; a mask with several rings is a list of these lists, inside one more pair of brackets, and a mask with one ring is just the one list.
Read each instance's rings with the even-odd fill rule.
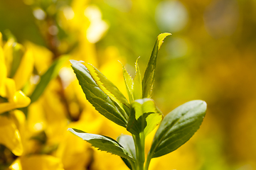
[[137,58],[137,60],[135,62],[135,70],[136,70],[135,73],[136,74],[134,77],[134,86],[133,86],[134,100],[142,99],[142,77],[139,72],[138,60],[139,60],[139,58]]

